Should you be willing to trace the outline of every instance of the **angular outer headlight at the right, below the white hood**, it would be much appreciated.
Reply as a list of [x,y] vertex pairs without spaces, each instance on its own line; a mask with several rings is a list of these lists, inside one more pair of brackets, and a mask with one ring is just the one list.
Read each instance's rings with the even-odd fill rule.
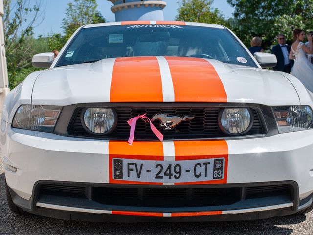
[[301,131],[312,127],[313,112],[307,105],[272,107],[279,133]]

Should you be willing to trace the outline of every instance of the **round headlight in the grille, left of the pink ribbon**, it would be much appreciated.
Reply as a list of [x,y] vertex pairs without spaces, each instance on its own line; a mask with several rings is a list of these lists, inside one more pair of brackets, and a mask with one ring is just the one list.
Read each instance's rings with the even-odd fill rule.
[[92,134],[108,134],[116,124],[115,113],[111,108],[87,108],[82,115],[83,126]]

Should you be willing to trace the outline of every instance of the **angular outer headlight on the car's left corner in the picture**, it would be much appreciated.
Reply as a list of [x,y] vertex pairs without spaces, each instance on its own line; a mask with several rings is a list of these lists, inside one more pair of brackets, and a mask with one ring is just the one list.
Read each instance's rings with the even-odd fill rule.
[[21,105],[15,113],[14,128],[53,132],[62,107],[52,105]]

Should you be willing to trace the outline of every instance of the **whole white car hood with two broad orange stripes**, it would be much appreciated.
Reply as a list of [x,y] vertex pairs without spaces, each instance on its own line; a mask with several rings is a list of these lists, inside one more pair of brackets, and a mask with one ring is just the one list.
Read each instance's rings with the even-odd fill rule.
[[126,57],[42,72],[33,104],[228,102],[299,105],[291,82],[276,71],[189,57]]

